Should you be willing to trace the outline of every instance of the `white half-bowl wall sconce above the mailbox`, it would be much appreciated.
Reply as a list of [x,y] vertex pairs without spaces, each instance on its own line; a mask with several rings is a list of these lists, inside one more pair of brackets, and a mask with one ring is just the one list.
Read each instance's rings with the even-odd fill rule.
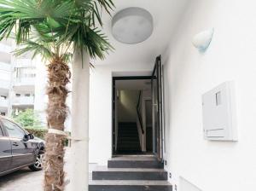
[[195,48],[200,52],[205,52],[212,41],[213,32],[214,28],[196,34],[192,40]]

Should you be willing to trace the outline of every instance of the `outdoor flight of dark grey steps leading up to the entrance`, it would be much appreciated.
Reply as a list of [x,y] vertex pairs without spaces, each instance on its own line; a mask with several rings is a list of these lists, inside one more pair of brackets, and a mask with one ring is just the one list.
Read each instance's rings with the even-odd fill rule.
[[154,157],[126,156],[92,171],[89,191],[172,191],[172,185],[164,165]]

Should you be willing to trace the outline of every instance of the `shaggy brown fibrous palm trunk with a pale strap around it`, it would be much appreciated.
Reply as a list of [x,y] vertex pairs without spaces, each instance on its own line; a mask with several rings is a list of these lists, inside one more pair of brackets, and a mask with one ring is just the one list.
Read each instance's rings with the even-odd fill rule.
[[49,98],[47,106],[48,128],[54,129],[46,135],[45,163],[44,163],[44,191],[64,190],[64,139],[61,135],[67,118],[67,83],[71,72],[67,63],[55,57],[48,65]]

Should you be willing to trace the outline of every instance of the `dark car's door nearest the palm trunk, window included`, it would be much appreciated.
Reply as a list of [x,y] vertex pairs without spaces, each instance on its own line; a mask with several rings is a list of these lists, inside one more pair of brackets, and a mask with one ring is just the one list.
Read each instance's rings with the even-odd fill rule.
[[36,159],[35,149],[32,142],[24,140],[26,132],[22,130],[17,124],[2,119],[3,128],[9,135],[9,140],[12,147],[12,169],[22,165],[30,165]]

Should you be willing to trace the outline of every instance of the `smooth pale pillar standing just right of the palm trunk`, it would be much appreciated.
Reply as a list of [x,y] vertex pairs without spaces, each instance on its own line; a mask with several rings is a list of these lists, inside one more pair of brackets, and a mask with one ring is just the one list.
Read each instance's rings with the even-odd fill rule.
[[90,57],[75,51],[72,81],[71,190],[88,191]]

